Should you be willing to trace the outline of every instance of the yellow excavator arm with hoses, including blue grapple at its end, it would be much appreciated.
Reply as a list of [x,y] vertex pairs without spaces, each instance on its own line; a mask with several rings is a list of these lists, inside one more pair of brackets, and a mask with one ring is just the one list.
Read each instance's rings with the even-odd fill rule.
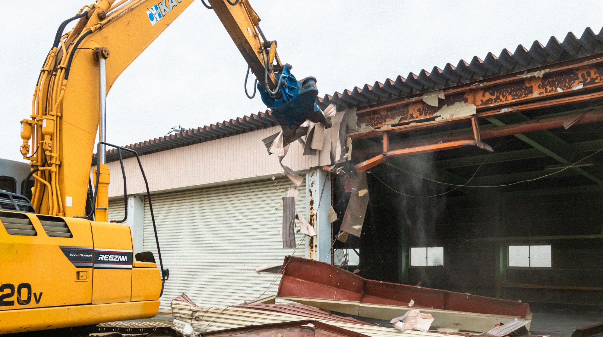
[[[192,0],[97,0],[58,29],[34,91],[30,119],[22,120],[21,152],[31,161],[32,204],[40,214],[84,217],[96,133],[104,140],[104,97],[119,75],[186,10]],[[306,119],[330,126],[315,104],[314,78],[297,81],[282,64],[277,43],[259,29],[247,0],[209,0],[257,78],[265,104],[285,136]],[[161,73],[160,69],[153,70]],[[160,88],[156,99],[173,88]],[[100,125],[100,130],[99,130]],[[285,137],[286,138],[286,137]],[[107,221],[109,170],[101,147],[95,219]],[[30,154],[31,153],[31,154]],[[87,217],[90,218],[89,214]]]

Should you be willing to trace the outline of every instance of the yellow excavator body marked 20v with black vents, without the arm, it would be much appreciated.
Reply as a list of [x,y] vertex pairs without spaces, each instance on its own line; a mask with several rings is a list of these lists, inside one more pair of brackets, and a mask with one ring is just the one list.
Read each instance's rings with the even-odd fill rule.
[[0,211],[0,334],[153,317],[161,276],[130,227]]

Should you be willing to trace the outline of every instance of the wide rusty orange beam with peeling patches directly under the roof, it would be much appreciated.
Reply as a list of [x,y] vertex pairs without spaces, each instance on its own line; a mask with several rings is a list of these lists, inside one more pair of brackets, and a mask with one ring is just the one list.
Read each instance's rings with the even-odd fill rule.
[[[539,73],[540,72],[540,73]],[[540,67],[531,73],[514,73],[498,79],[485,79],[459,85],[445,91],[437,107],[423,102],[417,95],[390,104],[377,104],[356,111],[358,123],[373,128],[402,117],[400,123],[433,116],[444,105],[464,102],[476,106],[479,113],[504,110],[511,105],[546,100],[573,100],[570,96],[601,91],[603,88],[603,59],[584,59],[557,67]],[[540,103],[540,102],[539,102]],[[478,115],[479,116],[479,115]]]

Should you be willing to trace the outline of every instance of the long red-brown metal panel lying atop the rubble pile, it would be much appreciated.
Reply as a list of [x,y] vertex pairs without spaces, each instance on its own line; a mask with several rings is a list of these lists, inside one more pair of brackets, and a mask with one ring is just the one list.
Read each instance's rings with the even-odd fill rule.
[[528,303],[399,283],[367,280],[324,262],[287,256],[277,295],[351,300],[377,305],[433,308],[475,314],[530,317]]

